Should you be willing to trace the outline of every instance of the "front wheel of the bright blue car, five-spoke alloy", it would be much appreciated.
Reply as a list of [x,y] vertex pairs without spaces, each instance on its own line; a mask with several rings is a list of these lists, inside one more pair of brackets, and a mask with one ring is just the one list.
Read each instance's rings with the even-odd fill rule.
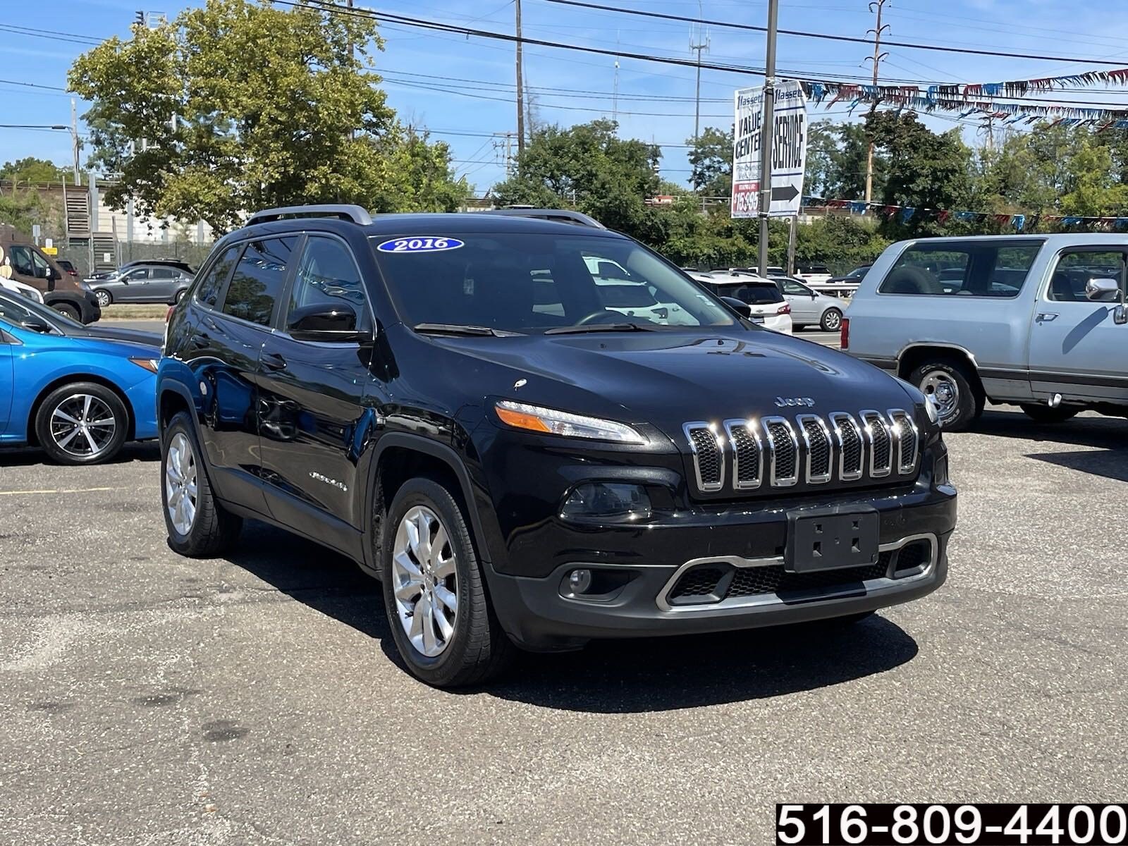
[[129,429],[125,403],[97,382],[73,382],[55,388],[35,414],[35,435],[39,446],[58,464],[108,461],[125,443]]

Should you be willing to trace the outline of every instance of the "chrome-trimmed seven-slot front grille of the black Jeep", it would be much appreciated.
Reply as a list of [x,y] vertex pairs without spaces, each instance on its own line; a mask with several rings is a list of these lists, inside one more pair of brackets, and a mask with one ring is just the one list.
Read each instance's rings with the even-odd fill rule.
[[913,415],[901,408],[726,420],[720,426],[696,421],[682,430],[702,493],[913,476],[920,451]]

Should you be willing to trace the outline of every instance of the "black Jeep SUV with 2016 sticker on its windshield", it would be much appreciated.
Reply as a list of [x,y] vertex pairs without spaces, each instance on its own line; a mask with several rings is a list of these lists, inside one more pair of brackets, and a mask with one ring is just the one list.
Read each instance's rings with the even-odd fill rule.
[[916,388],[580,220],[263,212],[165,354],[173,548],[254,518],[347,555],[433,685],[514,643],[853,619],[945,578],[955,491]]

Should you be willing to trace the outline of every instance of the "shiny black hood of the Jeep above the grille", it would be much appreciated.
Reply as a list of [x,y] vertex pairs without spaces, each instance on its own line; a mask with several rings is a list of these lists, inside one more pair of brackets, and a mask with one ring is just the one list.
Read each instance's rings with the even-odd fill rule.
[[[433,338],[458,352],[464,384],[521,402],[652,423],[676,442],[689,421],[911,412],[900,382],[820,344],[766,331],[694,328],[503,338]],[[466,378],[469,371],[474,378]],[[488,376],[493,378],[488,378]],[[526,384],[514,388],[514,382]],[[492,385],[491,385],[492,382]],[[788,402],[791,400],[791,402]]]

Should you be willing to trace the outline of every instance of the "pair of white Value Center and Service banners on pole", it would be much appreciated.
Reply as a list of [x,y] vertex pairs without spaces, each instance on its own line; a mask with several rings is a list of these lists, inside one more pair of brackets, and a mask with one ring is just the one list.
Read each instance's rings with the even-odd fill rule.
[[[741,88],[735,94],[737,120],[732,140],[732,217],[755,218],[760,212],[760,127],[764,89]],[[807,166],[807,98],[799,82],[781,81],[775,89],[772,132],[773,218],[799,213]]]

